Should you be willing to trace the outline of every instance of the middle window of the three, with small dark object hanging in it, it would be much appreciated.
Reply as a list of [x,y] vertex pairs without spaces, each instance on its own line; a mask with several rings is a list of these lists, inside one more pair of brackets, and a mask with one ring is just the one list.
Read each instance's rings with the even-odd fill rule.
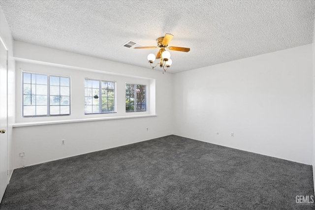
[[114,113],[115,82],[85,80],[85,114]]

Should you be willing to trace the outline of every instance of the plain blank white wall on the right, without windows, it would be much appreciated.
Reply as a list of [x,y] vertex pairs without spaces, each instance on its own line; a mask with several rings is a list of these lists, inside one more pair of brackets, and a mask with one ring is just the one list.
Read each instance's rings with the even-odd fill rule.
[[174,134],[312,164],[312,82],[312,44],[177,73]]

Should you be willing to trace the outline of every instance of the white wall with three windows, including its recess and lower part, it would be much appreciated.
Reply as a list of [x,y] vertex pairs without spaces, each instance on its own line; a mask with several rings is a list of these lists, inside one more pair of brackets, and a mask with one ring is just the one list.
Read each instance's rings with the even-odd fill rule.
[[[63,124],[32,125],[13,128],[14,168],[60,159],[68,156],[104,150],[139,141],[172,134],[172,118],[169,103],[172,95],[172,75],[148,68],[96,59],[79,54],[50,49],[20,41],[14,42],[14,56],[17,58],[17,116],[21,125],[26,121],[73,120],[134,115],[124,109],[126,82],[147,82],[155,86],[155,96],[150,92],[150,111],[145,114],[154,117],[71,122]],[[35,61],[32,61],[35,60]],[[49,64],[48,64],[49,63]],[[63,117],[21,117],[21,71],[34,71],[71,76],[71,116]],[[117,81],[117,114],[84,115],[84,78],[109,79]],[[124,94],[122,94],[124,93]],[[121,97],[123,95],[123,97]],[[154,101],[156,103],[154,105]],[[123,104],[123,105],[122,105]],[[147,131],[146,128],[149,128]],[[65,139],[65,145],[61,140]],[[25,152],[23,159],[20,152]]]

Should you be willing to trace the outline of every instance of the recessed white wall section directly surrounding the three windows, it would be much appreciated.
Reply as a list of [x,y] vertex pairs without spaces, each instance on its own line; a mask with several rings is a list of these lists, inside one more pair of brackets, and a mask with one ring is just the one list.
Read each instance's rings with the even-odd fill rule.
[[[71,69],[67,67],[57,67],[51,65],[44,65],[38,63],[16,61],[16,116],[15,121],[19,122],[36,122],[36,121],[52,121],[52,120],[74,120],[74,119],[90,119],[90,118],[104,118],[104,117],[121,117],[134,115],[155,115],[154,103],[147,104],[147,111],[145,112],[130,112],[126,113],[126,83],[147,85],[148,98],[155,98],[155,79],[134,78],[128,76],[119,76],[108,73],[99,73],[84,71],[79,69]],[[32,72],[38,74],[55,75],[70,77],[71,81],[71,115],[69,116],[51,116],[51,117],[22,117],[22,72]],[[116,82],[116,100],[117,113],[106,114],[84,114],[84,81],[85,79],[101,79],[105,81]]]

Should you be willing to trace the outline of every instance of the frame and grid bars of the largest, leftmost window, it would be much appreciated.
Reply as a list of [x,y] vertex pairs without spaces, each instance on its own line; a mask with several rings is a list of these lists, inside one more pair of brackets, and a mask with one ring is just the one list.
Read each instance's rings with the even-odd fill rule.
[[[25,84],[28,84],[28,83],[24,83],[24,74],[31,74],[31,78],[32,78],[32,75],[43,75],[43,76],[47,76],[47,103],[46,103],[46,106],[47,106],[47,114],[46,115],[27,115],[27,116],[24,116],[24,85]],[[50,95],[50,77],[59,77],[59,78],[67,78],[69,79],[69,105],[65,105],[65,106],[69,106],[69,114],[59,114],[59,115],[52,115],[50,114],[50,98],[51,96],[54,96],[54,95]],[[53,117],[53,116],[70,116],[71,115],[71,77],[70,76],[62,76],[62,75],[51,75],[51,74],[44,74],[44,73],[35,73],[35,72],[29,72],[29,71],[22,71],[22,91],[21,91],[21,96],[22,96],[22,118],[33,118],[33,117]],[[34,84],[30,84],[31,87],[32,85],[37,85],[36,83]],[[62,87],[60,84],[59,84],[59,88]],[[63,86],[63,87],[66,87],[66,86]],[[35,96],[37,95],[36,92],[34,94]],[[59,96],[62,96],[62,95],[59,95]],[[32,92],[31,92],[31,97],[32,97]],[[26,105],[27,106],[27,105]],[[36,106],[35,105],[35,109],[36,109]],[[57,106],[57,105],[56,105]],[[61,107],[61,105],[59,105],[59,107]]]

